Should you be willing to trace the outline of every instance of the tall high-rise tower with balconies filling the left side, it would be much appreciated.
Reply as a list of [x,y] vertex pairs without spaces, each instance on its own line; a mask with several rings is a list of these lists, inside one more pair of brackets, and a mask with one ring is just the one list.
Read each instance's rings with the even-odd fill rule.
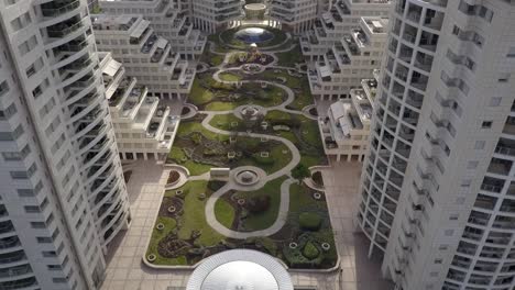
[[0,21],[0,288],[97,289],[131,216],[87,1]]

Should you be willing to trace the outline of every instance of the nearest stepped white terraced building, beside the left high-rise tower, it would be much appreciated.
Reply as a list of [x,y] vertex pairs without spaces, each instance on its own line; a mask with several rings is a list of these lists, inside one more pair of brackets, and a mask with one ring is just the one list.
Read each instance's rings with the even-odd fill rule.
[[100,54],[106,98],[111,112],[121,159],[164,159],[179,125],[178,116],[138,79],[125,76],[121,63],[109,53]]

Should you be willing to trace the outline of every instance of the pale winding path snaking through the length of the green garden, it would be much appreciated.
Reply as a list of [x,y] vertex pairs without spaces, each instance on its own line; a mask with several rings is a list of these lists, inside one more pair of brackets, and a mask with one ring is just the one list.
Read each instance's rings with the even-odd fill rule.
[[[278,111],[283,111],[285,113],[289,113],[289,114],[305,115],[305,112],[303,112],[303,111],[296,111],[296,110],[291,110],[291,109],[286,108],[288,104],[291,104],[295,100],[295,92],[289,87],[287,87],[287,86],[285,86],[283,83],[280,83],[278,81],[270,81],[270,80],[230,81],[230,80],[221,79],[220,78],[221,72],[243,71],[243,65],[239,66],[239,67],[231,67],[231,68],[226,67],[226,65],[229,64],[229,60],[231,59],[231,56],[234,55],[234,54],[241,53],[242,51],[233,51],[233,52],[229,52],[229,53],[218,53],[218,52],[216,52],[216,47],[215,47],[216,44],[212,43],[212,42],[210,44],[211,45],[209,45],[209,49],[210,49],[211,53],[217,54],[217,55],[224,55],[223,62],[219,66],[213,67],[213,69],[216,69],[216,71],[213,72],[212,78],[215,80],[217,80],[219,82],[228,83],[228,85],[251,83],[251,82],[260,82],[261,83],[261,82],[264,82],[264,83],[266,83],[269,86],[278,87],[278,88],[283,89],[286,92],[286,94],[287,94],[286,100],[284,100],[281,104],[264,108],[263,109],[264,112],[272,111],[272,110],[278,110]],[[283,45],[283,44],[281,44],[281,45]],[[278,46],[281,46],[281,45],[278,45]],[[295,46],[296,46],[296,44],[293,44],[288,48],[277,49],[277,51],[274,51],[273,49],[274,47],[270,47],[271,48],[270,51],[263,49],[265,54],[269,54],[274,58],[274,60],[271,64],[262,66],[263,71],[264,71],[265,68],[288,69],[288,70],[295,69],[293,67],[277,66],[276,64],[277,64],[278,58],[275,55],[276,53],[288,52],[288,51],[293,49]],[[303,72],[299,72],[299,74],[303,74]],[[243,135],[249,136],[249,137],[254,137],[254,138],[266,137],[269,140],[281,142],[292,153],[292,160],[286,166],[278,169],[277,171],[272,172],[272,174],[266,175],[266,176],[263,176],[262,180],[260,180],[259,183],[253,185],[253,186],[241,186],[241,185],[238,185],[237,182],[234,182],[232,179],[230,179],[223,187],[221,187],[220,189],[215,191],[208,198],[208,200],[206,202],[206,209],[205,209],[205,211],[206,211],[206,221],[208,222],[208,224],[212,228],[215,228],[217,232],[219,232],[220,234],[222,234],[222,235],[224,235],[227,237],[244,239],[244,238],[248,238],[248,237],[255,237],[255,236],[270,236],[270,235],[278,232],[284,226],[284,224],[286,223],[286,219],[287,219],[287,214],[288,214],[288,208],[289,208],[289,187],[293,183],[297,182],[297,180],[295,180],[295,179],[293,179],[291,177],[291,172],[300,163],[300,153],[299,153],[298,148],[295,146],[295,144],[293,142],[291,142],[287,138],[281,137],[281,136],[269,135],[269,134],[259,134],[259,133],[252,133],[252,132],[245,133],[245,132],[224,131],[224,130],[217,129],[217,127],[215,127],[215,126],[212,126],[210,124],[213,116],[219,115],[219,114],[230,114],[230,113],[234,113],[234,112],[235,112],[234,110],[228,110],[228,111],[199,111],[199,113],[206,114],[206,118],[201,122],[202,126],[206,130],[208,130],[210,132],[213,132],[216,134],[221,134],[221,135],[231,135],[231,134],[234,134],[234,133],[239,133],[239,134],[243,134]],[[230,228],[226,227],[224,225],[222,225],[217,220],[217,216],[216,216],[216,213],[215,213],[215,204],[218,201],[218,199],[221,198],[224,193],[227,193],[230,190],[239,190],[239,191],[258,190],[258,189],[262,188],[266,182],[272,181],[274,179],[277,179],[280,177],[283,177],[283,176],[289,176],[289,178],[284,180],[283,183],[281,185],[281,204],[280,204],[280,208],[278,208],[277,217],[275,219],[275,222],[270,227],[264,228],[264,230],[260,230],[260,231],[253,231],[253,232],[240,232],[240,231],[234,231],[234,230],[230,230]],[[189,180],[209,180],[209,172],[200,175],[200,176],[189,177]]]

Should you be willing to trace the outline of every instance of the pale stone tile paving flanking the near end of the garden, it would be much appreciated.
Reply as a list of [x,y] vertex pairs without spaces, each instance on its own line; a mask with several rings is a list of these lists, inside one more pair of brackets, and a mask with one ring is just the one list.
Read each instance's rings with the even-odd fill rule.
[[[381,279],[379,261],[368,259],[369,243],[353,226],[360,168],[361,164],[358,163],[332,163],[331,167],[322,172],[341,256],[341,275],[292,271],[295,287],[306,290],[393,289],[388,281]],[[134,165],[128,182],[132,224],[128,231],[119,234],[111,245],[107,276],[101,289],[169,290],[186,286],[190,271],[155,270],[145,267],[141,261],[166,178],[167,171],[155,161],[136,161]]]

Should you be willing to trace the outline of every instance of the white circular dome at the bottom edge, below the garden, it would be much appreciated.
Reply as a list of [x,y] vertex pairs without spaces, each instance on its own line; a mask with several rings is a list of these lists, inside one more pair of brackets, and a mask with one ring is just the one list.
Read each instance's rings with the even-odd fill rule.
[[293,290],[286,268],[274,257],[251,249],[227,250],[204,260],[186,290]]

